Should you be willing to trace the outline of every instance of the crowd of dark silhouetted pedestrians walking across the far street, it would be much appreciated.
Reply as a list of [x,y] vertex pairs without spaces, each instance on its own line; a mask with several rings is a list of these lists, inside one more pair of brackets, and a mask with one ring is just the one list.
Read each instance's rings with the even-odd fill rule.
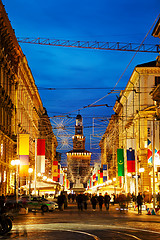
[[[142,194],[141,192],[138,193],[138,196],[135,196],[134,193],[127,195],[125,193],[120,194],[108,194],[107,192],[102,195],[102,193],[99,193],[98,195],[93,193],[76,193],[67,194],[66,192],[61,192],[60,195],[58,195],[57,203],[59,206],[59,210],[63,210],[67,208],[68,203],[77,203],[77,208],[80,211],[87,210],[88,205],[91,204],[92,210],[95,211],[96,209],[99,209],[102,211],[102,207],[104,206],[106,211],[109,211],[110,204],[119,204],[120,207],[127,207],[128,205],[133,203],[134,206],[137,206],[138,208],[138,214],[142,213],[142,205],[146,202],[146,195]],[[157,207],[160,208],[160,192],[156,195],[156,203]],[[0,196],[0,213],[6,210],[10,210],[12,208],[15,208],[15,196],[9,195],[9,196]],[[4,208],[5,207],[5,208]]]

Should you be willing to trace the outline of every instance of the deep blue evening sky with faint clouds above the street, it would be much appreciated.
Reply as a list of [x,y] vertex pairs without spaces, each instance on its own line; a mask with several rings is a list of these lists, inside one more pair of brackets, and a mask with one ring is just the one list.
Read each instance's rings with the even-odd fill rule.
[[[2,2],[17,37],[140,44],[160,13],[159,0],[3,0]],[[151,36],[152,31],[153,29],[144,44],[159,43],[159,39]],[[99,136],[105,131],[108,119],[114,113],[112,106],[119,91],[125,88],[134,67],[153,61],[157,57],[155,53],[137,53],[125,71],[134,52],[25,43],[20,46],[28,60],[43,105],[51,117],[53,128],[63,121],[66,131],[63,134],[69,134],[71,137],[74,134],[75,117],[80,110],[86,136],[86,149],[92,152],[100,152],[95,149],[98,148]],[[108,95],[117,82],[115,88],[117,91]],[[86,108],[93,103],[108,104],[109,107]],[[93,130],[95,137],[91,135]],[[61,136],[60,138],[62,140]],[[72,143],[72,139],[70,141]],[[60,152],[70,150],[61,149],[60,145],[61,143]],[[93,154],[92,161],[97,161],[98,157],[99,154]]]

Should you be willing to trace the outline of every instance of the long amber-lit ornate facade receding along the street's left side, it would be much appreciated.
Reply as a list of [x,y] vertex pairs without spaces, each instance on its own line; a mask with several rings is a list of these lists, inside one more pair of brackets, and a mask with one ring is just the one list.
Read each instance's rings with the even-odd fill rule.
[[[47,167],[51,166],[51,169],[57,141],[1,1],[0,33],[0,195],[6,195],[14,192],[15,168],[11,161],[18,158],[18,134],[29,134],[29,167],[33,169],[35,139],[46,139]],[[52,170],[47,171],[52,174]]]

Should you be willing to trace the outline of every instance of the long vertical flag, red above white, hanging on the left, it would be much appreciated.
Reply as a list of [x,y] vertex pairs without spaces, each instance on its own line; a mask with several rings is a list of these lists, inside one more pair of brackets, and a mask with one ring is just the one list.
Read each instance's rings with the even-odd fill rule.
[[37,173],[45,173],[45,139],[37,139]]

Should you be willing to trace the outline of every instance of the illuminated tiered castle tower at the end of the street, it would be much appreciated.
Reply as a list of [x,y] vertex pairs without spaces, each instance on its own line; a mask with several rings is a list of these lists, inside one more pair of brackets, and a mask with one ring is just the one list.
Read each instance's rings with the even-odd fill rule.
[[83,136],[83,121],[80,114],[76,117],[73,150],[67,152],[68,179],[71,188],[83,191],[90,177],[91,152],[85,150],[85,137]]

